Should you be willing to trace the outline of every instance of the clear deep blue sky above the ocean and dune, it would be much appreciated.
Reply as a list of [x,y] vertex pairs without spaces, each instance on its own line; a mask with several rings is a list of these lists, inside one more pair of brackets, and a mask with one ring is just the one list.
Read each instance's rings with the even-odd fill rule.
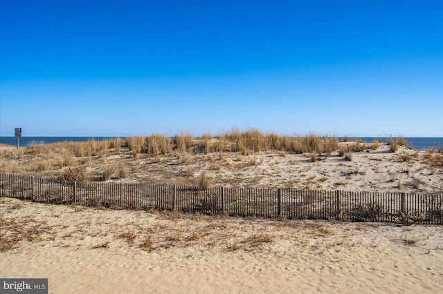
[[443,1],[0,0],[0,136],[443,137]]

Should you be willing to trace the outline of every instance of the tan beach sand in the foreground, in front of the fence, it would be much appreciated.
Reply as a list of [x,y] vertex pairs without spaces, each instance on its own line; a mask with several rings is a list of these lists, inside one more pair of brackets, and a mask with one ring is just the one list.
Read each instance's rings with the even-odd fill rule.
[[0,277],[49,293],[441,293],[442,226],[209,217],[0,198]]

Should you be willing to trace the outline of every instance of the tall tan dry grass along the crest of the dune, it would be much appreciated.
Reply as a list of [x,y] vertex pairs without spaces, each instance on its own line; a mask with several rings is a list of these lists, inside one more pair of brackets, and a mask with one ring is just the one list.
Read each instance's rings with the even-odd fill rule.
[[[154,134],[149,137],[126,137],[107,141],[35,144],[19,148],[19,150],[2,151],[0,170],[13,173],[43,173],[81,166],[91,160],[106,159],[111,152],[130,152],[134,158],[140,153],[154,157],[179,154],[183,158],[188,158],[186,157],[188,153],[238,152],[250,155],[262,151],[275,151],[284,154],[316,153],[318,155],[329,154],[334,150],[338,150],[336,137],[325,137],[314,133],[309,133],[305,137],[300,135],[289,137],[263,133],[254,128],[233,129],[221,135],[213,136],[206,133],[197,139],[190,133],[180,133],[173,138]],[[17,159],[26,159],[26,161],[24,164],[17,165],[13,162]]]

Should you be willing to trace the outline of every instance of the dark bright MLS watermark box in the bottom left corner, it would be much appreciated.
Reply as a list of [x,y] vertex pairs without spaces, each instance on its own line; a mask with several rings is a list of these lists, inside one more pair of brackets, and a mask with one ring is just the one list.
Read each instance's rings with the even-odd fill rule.
[[0,293],[48,294],[48,279],[1,279]]

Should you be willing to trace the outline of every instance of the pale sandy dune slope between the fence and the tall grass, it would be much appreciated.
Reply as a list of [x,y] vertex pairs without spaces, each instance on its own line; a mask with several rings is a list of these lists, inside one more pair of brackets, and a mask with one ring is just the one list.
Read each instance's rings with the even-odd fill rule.
[[[66,146],[40,146],[42,150],[0,148],[0,170],[39,177],[55,177],[79,167],[87,180],[98,182],[198,185],[202,173],[208,186],[246,188],[309,188],[404,193],[442,193],[443,155],[398,146],[341,142],[350,149],[347,158],[335,150],[329,155],[264,151],[242,155],[234,152],[138,154],[121,148],[102,155],[74,157]],[[37,147],[38,148],[38,147]],[[60,149],[60,150],[57,150]],[[37,149],[36,149],[37,150]],[[355,151],[359,150],[359,151]],[[21,152],[21,154],[20,154]],[[106,176],[105,180],[105,173]]]

